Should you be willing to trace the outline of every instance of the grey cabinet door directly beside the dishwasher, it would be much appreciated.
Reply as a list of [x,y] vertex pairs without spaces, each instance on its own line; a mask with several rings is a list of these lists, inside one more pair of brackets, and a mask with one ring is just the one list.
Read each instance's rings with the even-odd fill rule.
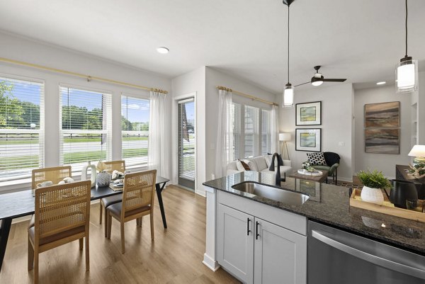
[[259,218],[254,222],[254,283],[307,283],[307,237]]

